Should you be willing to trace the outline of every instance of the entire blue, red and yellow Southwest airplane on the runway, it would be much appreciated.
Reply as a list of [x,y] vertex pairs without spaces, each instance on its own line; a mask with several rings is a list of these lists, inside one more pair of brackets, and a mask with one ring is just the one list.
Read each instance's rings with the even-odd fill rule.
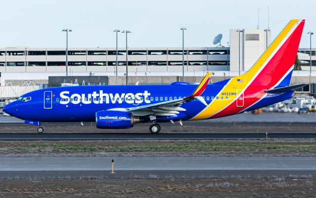
[[291,20],[244,74],[209,84],[111,85],[55,87],[33,91],[7,104],[3,111],[38,126],[41,122],[96,122],[100,129],[128,129],[137,123],[205,120],[225,117],[290,99],[289,86],[305,20]]

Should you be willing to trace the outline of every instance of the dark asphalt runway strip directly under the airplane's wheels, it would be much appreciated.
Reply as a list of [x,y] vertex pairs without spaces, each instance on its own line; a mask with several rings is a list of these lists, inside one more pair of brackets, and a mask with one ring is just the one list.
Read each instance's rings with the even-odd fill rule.
[[316,133],[0,133],[0,141],[316,139]]

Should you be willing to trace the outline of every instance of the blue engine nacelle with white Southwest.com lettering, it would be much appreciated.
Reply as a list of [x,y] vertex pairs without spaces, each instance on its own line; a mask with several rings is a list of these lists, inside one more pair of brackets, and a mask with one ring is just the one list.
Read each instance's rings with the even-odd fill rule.
[[140,122],[138,116],[124,111],[98,111],[95,121],[99,129],[128,129]]

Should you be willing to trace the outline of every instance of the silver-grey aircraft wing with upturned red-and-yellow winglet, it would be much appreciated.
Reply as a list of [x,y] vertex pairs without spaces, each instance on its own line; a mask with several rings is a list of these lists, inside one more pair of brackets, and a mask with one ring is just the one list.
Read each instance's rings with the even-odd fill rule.
[[[124,108],[122,110],[133,113],[136,116],[176,116],[179,111],[186,111],[185,108],[180,107],[183,103],[190,102],[192,100],[199,100],[203,104],[207,105],[203,97],[200,95],[205,91],[207,84],[209,83],[210,76],[214,74],[212,72],[205,75],[201,83],[197,86],[197,89],[189,97],[183,99],[173,99],[169,101],[163,101],[153,104],[147,104],[137,107]],[[117,108],[109,110],[119,110]]]

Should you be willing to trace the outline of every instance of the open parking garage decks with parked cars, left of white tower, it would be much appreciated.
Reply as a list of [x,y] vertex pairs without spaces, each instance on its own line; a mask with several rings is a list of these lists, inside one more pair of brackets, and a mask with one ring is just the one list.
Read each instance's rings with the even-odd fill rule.
[[[185,48],[185,71],[228,70],[229,48]],[[68,49],[69,73],[113,72],[115,48]],[[182,71],[182,48],[129,48],[129,71]],[[0,72],[66,72],[66,49],[2,48]],[[126,51],[118,49],[118,72],[126,68]]]

